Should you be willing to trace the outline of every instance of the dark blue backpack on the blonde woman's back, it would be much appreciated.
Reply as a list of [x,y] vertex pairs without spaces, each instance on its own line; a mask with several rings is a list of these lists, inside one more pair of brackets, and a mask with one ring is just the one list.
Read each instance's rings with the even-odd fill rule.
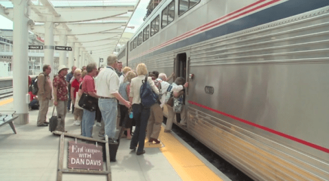
[[141,105],[146,108],[150,108],[153,104],[155,104],[159,98],[159,96],[153,92],[150,84],[148,84],[148,76],[146,75],[145,80],[142,80],[143,84],[140,88],[140,97],[141,97]]

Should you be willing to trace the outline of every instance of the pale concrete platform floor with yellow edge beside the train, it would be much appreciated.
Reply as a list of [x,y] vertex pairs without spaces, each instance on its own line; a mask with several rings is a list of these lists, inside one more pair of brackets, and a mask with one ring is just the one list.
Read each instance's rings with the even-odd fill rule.
[[[12,98],[0,100],[1,110],[13,110]],[[52,107],[47,118],[52,114],[50,110]],[[0,180],[56,180],[60,136],[49,132],[48,127],[37,127],[37,116],[38,110],[31,110],[30,123],[15,125],[17,134],[9,125],[0,128]],[[65,129],[80,135],[80,127],[73,121],[73,114],[68,112]],[[94,125],[93,138],[99,138],[98,130],[100,127]],[[112,180],[229,180],[173,132],[165,133],[162,128],[159,139],[159,145],[147,142],[146,154],[137,156],[129,149],[130,140],[122,138],[117,161],[111,162]],[[106,180],[106,176],[66,173],[63,180]]]

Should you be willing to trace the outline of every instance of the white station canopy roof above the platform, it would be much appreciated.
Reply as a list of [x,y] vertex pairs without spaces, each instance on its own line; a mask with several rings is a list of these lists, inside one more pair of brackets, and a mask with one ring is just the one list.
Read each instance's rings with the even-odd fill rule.
[[[15,1],[15,0],[12,0]],[[13,20],[12,1],[0,1],[0,14]],[[95,60],[111,54],[133,16],[139,0],[32,0],[27,1],[29,18],[35,22],[30,31],[45,37],[45,22],[54,22],[54,42],[67,35],[67,43],[80,43]]]

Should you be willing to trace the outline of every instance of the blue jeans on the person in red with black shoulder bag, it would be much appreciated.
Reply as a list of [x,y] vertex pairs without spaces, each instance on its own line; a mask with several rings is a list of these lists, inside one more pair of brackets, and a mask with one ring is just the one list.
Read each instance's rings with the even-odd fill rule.
[[95,111],[91,112],[89,110],[83,109],[82,116],[82,136],[87,136],[91,138],[93,134],[93,123],[95,122]]

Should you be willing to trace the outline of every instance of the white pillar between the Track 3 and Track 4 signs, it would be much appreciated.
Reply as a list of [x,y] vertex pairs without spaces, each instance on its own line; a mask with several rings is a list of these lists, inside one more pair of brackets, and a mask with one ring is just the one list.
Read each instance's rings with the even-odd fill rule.
[[[54,22],[45,22],[45,63],[52,67],[52,72],[49,74],[50,80],[54,79]],[[57,73],[56,73],[57,74]]]

